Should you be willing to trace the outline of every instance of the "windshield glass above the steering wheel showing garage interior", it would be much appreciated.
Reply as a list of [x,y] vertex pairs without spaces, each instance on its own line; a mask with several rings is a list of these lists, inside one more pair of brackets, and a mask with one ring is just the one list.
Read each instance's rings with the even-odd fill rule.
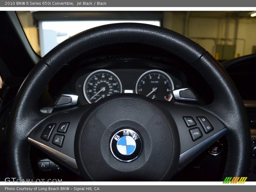
[[256,17],[251,12],[28,12],[17,15],[34,51],[44,56],[70,36],[89,28],[139,22],[176,31],[204,47],[217,60],[256,53]]

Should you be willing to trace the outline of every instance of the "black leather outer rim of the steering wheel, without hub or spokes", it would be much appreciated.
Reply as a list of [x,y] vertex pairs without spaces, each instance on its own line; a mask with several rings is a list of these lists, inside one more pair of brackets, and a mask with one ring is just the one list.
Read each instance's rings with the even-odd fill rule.
[[179,56],[204,76],[214,92],[212,104],[202,106],[228,129],[228,158],[224,175],[244,176],[250,163],[250,131],[243,101],[227,72],[208,52],[190,39],[165,28],[119,23],[81,32],[47,53],[28,74],[15,98],[7,131],[7,153],[12,177],[33,178],[29,134],[45,114],[38,109],[44,87],[64,66],[92,49],[123,43],[158,47]]

